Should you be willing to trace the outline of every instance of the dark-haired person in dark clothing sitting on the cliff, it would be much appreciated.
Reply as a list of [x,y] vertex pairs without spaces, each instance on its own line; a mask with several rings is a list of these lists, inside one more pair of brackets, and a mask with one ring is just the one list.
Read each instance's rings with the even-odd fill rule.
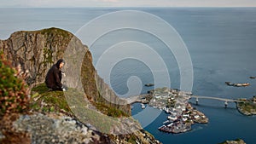
[[63,59],[58,60],[47,72],[45,84],[49,89],[66,91],[64,85],[61,84],[61,68],[65,65]]

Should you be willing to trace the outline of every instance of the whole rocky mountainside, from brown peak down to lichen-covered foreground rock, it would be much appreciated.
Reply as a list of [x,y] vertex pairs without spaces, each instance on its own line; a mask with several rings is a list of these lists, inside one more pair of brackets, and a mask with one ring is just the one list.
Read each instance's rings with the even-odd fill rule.
[[[133,123],[132,118],[124,118],[125,121],[118,119],[116,124],[113,124],[110,123],[113,122],[113,118],[102,114],[106,114],[106,109],[107,111],[111,109],[115,114],[119,111],[125,112],[121,117],[129,116],[131,108],[96,74],[89,49],[72,33],[57,28],[15,32],[9,39],[0,40],[0,51],[3,51],[14,66],[20,64],[23,71],[28,70],[30,75],[26,78],[26,83],[31,88],[34,85],[43,87],[39,89],[41,91],[39,95],[32,96],[33,107],[30,111],[32,113],[15,113],[14,116],[7,114],[4,118],[0,118],[0,143],[160,143],[142,130],[139,124]],[[73,90],[79,91],[73,93],[72,97],[66,96],[66,99],[62,92],[49,91],[42,84],[49,67],[60,58],[67,60],[65,66],[67,77],[64,78],[64,83]],[[67,90],[67,93],[72,92],[72,89]],[[80,95],[80,90],[84,91],[85,96]],[[68,107],[68,98],[71,98],[70,101],[75,101],[76,106]],[[95,107],[92,109],[87,107],[86,102],[93,104],[101,112],[95,111]],[[103,106],[103,109],[98,106]],[[70,114],[68,110],[74,107],[82,113],[80,116],[86,122],[88,118],[83,114],[84,112],[95,118],[92,118],[95,121],[104,121],[101,125],[104,128],[105,124],[114,125],[113,129],[110,129],[113,134],[91,128],[90,123],[85,124],[83,118]],[[83,109],[79,109],[80,107]],[[120,133],[121,130],[128,132]]]

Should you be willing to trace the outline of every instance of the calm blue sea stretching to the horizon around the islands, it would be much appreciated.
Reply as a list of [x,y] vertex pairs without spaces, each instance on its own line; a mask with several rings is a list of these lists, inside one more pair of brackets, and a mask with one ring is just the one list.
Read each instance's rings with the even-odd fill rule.
[[[2,40],[16,31],[49,27],[72,32],[89,44],[97,72],[120,97],[165,86],[228,99],[256,95],[256,79],[249,78],[256,76],[256,8],[0,8]],[[250,85],[238,88],[225,82]],[[148,83],[155,85],[144,86]],[[235,103],[224,108],[224,101],[189,102],[209,123],[194,124],[182,134],[157,129],[166,112],[146,106],[147,117],[136,117],[145,109],[135,103],[132,115],[142,124],[153,119],[143,128],[164,144],[237,138],[256,143],[256,117],[241,114]]]

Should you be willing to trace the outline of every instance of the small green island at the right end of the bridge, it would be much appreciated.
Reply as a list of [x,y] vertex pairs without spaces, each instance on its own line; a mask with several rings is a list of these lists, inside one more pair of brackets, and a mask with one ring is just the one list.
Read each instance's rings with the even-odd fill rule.
[[239,112],[244,115],[256,115],[256,95],[251,99],[239,99],[244,102],[236,102],[236,107]]

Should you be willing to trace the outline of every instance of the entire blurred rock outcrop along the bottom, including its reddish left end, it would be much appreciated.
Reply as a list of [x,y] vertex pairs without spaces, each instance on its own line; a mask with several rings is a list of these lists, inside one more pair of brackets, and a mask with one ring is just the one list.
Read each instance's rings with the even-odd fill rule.
[[129,135],[106,135],[61,113],[6,115],[0,128],[0,143],[160,144],[144,130]]

